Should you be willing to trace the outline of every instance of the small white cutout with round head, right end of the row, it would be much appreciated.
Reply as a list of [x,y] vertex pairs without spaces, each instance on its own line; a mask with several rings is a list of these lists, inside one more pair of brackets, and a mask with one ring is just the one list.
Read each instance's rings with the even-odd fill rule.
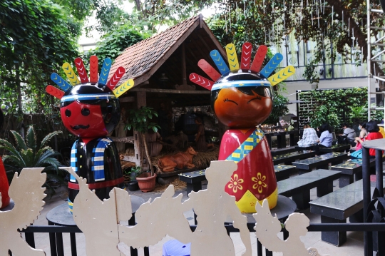
[[[263,200],[262,205],[255,205],[257,213],[253,214],[255,218],[255,234],[258,240],[267,250],[272,252],[282,252],[284,256],[321,256],[314,248],[308,250],[299,237],[307,234],[309,218],[303,213],[292,213],[284,222],[286,230],[289,232],[287,240],[281,240],[277,233],[281,232],[281,222],[277,215],[272,217],[267,200]],[[327,256],[327,255],[324,255]]]

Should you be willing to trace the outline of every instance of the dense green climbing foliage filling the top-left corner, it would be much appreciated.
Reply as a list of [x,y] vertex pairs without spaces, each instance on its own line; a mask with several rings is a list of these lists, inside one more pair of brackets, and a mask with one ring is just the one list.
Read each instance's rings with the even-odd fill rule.
[[54,101],[45,87],[53,71],[78,55],[81,22],[50,0],[4,0],[0,24],[2,103],[20,116],[21,111],[51,113]]

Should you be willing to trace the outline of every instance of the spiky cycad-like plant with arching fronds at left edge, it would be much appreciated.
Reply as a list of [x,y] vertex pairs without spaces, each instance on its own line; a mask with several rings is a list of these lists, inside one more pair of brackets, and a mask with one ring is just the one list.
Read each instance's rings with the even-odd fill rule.
[[62,165],[55,158],[57,155],[60,155],[60,153],[54,151],[46,144],[54,135],[62,132],[56,130],[53,133],[49,133],[41,140],[39,147],[33,126],[29,126],[25,139],[14,130],[11,130],[11,133],[14,135],[15,145],[7,140],[0,139],[0,149],[9,152],[9,155],[3,155],[2,157],[6,170],[20,172],[23,168],[45,167],[43,170],[44,173],[47,173],[45,186],[50,189],[52,193],[51,183],[63,182],[62,171],[58,169]]

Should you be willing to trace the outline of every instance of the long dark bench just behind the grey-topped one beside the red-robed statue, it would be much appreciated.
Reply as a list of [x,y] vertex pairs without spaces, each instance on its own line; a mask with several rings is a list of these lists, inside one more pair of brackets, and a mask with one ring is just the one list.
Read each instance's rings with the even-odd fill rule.
[[299,174],[307,173],[313,168],[329,169],[329,163],[338,164],[343,160],[347,160],[349,156],[347,153],[332,152],[324,155],[315,156],[304,160],[297,160],[292,163],[298,169]]

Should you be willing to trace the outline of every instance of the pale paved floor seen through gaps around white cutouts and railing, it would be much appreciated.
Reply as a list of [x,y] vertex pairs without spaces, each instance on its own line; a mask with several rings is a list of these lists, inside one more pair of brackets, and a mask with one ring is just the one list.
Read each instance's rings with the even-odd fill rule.
[[[205,185],[203,185],[205,188]],[[337,190],[338,180],[334,181],[334,190]],[[185,191],[177,191],[176,194],[183,193],[183,200],[187,199],[187,195]],[[138,195],[143,198],[145,201],[150,198],[154,199],[158,197],[159,193],[142,193],[140,190],[130,192],[131,195]],[[317,198],[316,189],[311,190],[311,198]],[[55,208],[58,205],[66,203],[66,188],[62,188],[58,191],[53,198],[46,200],[46,205],[44,206],[44,210],[41,212],[38,220],[34,223],[34,225],[47,225],[46,221],[46,213],[52,208]],[[310,222],[321,222],[320,217],[318,215],[314,215],[308,210],[301,211],[300,213],[304,213],[309,217]],[[190,221],[190,224],[193,224],[193,211],[185,213],[185,217]],[[240,240],[240,235],[238,233],[231,233],[230,237],[234,241],[235,244],[235,252],[236,255],[242,255],[244,252],[244,247]],[[257,245],[255,234],[250,233],[250,237],[252,239],[252,255],[257,255]],[[282,237],[281,237],[282,238]],[[150,247],[150,255],[162,255],[162,246],[163,243],[173,239],[172,237],[165,237],[162,241],[160,241],[157,245]],[[51,255],[50,247],[49,247],[49,239],[48,234],[38,233],[35,235],[36,240],[36,248],[43,249],[46,252],[46,255]],[[64,250],[65,255],[71,255],[70,248],[70,240],[68,234],[63,234],[64,240]],[[363,234],[361,232],[348,232],[347,234],[347,242],[344,243],[341,247],[336,247],[334,245],[329,245],[326,242],[322,242],[321,233],[320,232],[308,232],[305,237],[302,237],[302,241],[306,247],[315,247],[319,251],[320,255],[335,255],[335,256],[361,256],[364,255],[364,243],[363,243]],[[77,242],[77,250],[78,255],[86,255],[85,252],[85,239],[83,234],[76,234],[76,242]],[[143,255],[143,250],[139,250],[139,255]],[[265,255],[265,254],[264,254]],[[274,255],[282,255],[281,253],[275,253]],[[18,255],[16,255],[18,256]]]

